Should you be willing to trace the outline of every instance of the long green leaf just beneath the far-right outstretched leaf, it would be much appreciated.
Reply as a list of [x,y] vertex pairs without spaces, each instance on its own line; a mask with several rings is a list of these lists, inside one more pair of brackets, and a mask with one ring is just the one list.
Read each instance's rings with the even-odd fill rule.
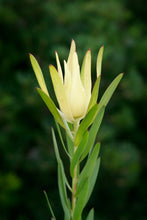
[[105,111],[105,108],[102,107],[100,109],[100,111],[98,112],[95,120],[94,120],[94,123],[93,125],[91,126],[90,130],[89,130],[89,138],[88,138],[88,142],[87,142],[87,145],[86,145],[86,148],[85,148],[85,151],[82,155],[82,158],[81,160],[83,160],[87,154],[89,153],[90,149],[92,149],[93,147],[93,144],[95,142],[95,138],[96,138],[96,135],[98,133],[98,130],[100,128],[100,125],[101,125],[101,122],[102,122],[102,119],[103,119],[103,116],[104,116],[104,111]]

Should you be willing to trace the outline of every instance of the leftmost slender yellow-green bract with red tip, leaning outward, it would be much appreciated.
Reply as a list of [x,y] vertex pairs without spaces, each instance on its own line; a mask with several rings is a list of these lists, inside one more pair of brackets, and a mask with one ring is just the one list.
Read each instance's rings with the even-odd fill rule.
[[30,56],[30,61],[31,61],[34,73],[36,75],[37,81],[38,81],[41,89],[49,96],[41,68],[40,68],[37,60],[35,59],[35,57],[32,54],[29,54],[29,56]]

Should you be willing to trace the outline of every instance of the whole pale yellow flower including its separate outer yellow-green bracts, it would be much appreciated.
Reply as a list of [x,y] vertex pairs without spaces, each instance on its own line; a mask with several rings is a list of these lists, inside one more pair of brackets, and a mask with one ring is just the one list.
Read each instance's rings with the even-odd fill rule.
[[[101,76],[103,46],[97,57],[97,79]],[[60,107],[58,112],[64,120],[74,123],[81,120],[97,101],[99,80],[95,83],[95,94],[91,95],[91,51],[87,51],[80,71],[75,41],[72,40],[67,62],[64,60],[64,77],[57,52],[55,51],[57,69],[49,65],[55,95]],[[42,71],[37,60],[30,54],[31,63],[45,98],[50,98]],[[43,93],[41,93],[43,94]],[[46,95],[46,96],[45,96]],[[51,99],[51,98],[50,98]],[[50,100],[51,101],[51,100]],[[46,102],[46,101],[45,101]],[[53,104],[53,103],[52,103]],[[54,113],[54,111],[52,111]]]

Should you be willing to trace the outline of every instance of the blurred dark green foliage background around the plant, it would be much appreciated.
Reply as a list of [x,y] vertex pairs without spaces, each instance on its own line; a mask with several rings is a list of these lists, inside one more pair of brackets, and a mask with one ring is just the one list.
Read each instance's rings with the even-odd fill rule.
[[50,219],[44,189],[63,219],[54,120],[34,89],[28,53],[38,59],[54,98],[48,65],[55,65],[55,50],[67,59],[72,38],[80,64],[91,48],[93,80],[97,52],[105,46],[100,95],[125,72],[97,137],[102,163],[85,214],[94,207],[96,220],[147,219],[146,8],[145,0],[0,0],[0,220]]

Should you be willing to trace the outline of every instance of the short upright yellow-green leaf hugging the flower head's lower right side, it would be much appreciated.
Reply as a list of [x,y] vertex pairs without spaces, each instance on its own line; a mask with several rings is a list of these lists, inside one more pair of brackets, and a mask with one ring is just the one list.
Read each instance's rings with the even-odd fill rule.
[[101,75],[97,78],[97,80],[94,84],[87,112],[89,112],[89,110],[97,103],[100,78],[101,78]]

